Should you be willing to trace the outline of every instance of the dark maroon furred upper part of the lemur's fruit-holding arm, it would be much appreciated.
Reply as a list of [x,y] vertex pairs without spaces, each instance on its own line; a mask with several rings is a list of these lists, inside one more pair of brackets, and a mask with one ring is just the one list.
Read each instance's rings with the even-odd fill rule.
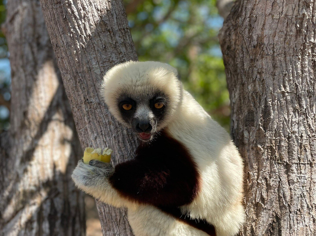
[[162,160],[131,160],[115,167],[110,183],[125,198],[154,206],[181,206],[190,203],[196,192],[196,180],[185,163]]

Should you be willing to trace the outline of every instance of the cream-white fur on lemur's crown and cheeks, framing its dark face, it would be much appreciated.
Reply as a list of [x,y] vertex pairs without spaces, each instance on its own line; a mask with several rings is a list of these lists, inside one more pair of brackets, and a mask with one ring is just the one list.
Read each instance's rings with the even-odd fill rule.
[[165,104],[164,117],[157,122],[154,130],[159,131],[168,124],[176,112],[182,92],[182,84],[177,78],[176,69],[172,66],[161,62],[129,61],[114,66],[106,73],[101,82],[100,95],[104,98],[112,115],[118,121],[131,127],[131,123],[126,122],[120,112],[119,99],[130,97],[140,102],[137,104],[138,108],[134,116],[144,116],[145,114],[142,113],[148,111],[145,109],[146,101],[148,103],[155,94],[163,93],[167,104]]

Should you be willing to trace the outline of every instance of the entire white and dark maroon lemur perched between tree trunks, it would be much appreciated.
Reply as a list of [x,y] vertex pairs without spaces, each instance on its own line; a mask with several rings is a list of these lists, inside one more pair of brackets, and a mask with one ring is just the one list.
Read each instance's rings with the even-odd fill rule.
[[103,78],[112,115],[137,133],[128,162],[78,162],[80,189],[127,207],[136,236],[231,236],[245,220],[243,163],[228,133],[161,62],[125,62]]

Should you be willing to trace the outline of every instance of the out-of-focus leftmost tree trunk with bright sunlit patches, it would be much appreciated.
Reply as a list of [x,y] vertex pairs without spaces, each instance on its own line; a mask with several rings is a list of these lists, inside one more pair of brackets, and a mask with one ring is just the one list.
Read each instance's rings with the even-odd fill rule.
[[82,150],[40,3],[7,7],[12,96],[0,140],[0,235],[85,235],[83,194],[70,178]]

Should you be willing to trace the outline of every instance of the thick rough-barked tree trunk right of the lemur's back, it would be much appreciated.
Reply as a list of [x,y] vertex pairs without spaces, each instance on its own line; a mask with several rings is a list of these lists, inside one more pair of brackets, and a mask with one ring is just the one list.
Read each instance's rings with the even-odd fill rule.
[[315,1],[239,0],[220,42],[245,159],[243,235],[316,235]]

